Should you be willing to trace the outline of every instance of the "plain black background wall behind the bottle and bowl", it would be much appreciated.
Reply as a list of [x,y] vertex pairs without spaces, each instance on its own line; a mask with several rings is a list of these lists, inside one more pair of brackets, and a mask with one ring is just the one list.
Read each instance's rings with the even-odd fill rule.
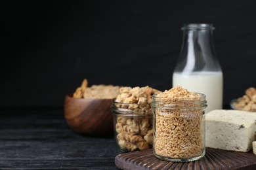
[[0,107],[62,107],[89,84],[171,88],[185,23],[212,23],[224,105],[256,86],[256,1],[1,2]]

